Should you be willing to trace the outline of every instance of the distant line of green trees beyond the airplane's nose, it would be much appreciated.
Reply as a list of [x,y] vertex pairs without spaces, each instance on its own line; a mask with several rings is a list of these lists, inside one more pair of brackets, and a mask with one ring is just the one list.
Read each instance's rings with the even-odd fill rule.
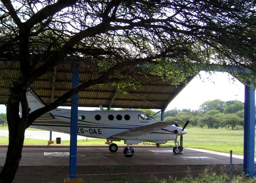
[[200,105],[199,110],[182,109],[165,112],[165,121],[175,120],[182,126],[190,120],[191,126],[208,128],[244,127],[244,102],[238,100],[208,100]]

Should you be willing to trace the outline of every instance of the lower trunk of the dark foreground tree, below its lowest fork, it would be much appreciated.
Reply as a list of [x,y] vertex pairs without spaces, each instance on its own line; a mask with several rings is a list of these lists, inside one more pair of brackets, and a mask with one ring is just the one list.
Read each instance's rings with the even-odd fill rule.
[[12,136],[9,135],[9,146],[6,154],[6,161],[0,173],[1,183],[11,183],[18,169],[24,142],[25,130],[15,130]]

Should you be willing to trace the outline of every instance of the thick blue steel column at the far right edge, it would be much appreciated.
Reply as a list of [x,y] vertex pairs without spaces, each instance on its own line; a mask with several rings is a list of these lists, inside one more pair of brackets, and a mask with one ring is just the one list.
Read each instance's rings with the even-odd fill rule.
[[254,177],[255,94],[245,86],[244,95],[244,173]]

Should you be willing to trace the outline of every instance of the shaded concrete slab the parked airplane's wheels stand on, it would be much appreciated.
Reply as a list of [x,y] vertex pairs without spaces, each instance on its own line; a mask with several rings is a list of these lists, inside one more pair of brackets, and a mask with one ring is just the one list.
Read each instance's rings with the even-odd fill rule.
[[[172,148],[133,146],[133,157],[123,155],[123,147],[111,153],[108,146],[78,146],[77,165],[215,165],[229,164],[229,154],[200,152],[184,149],[183,154],[174,155]],[[4,164],[7,147],[0,148],[0,165]],[[59,144],[49,146],[24,146],[20,166],[69,165],[69,147]],[[233,164],[242,164],[242,156],[233,156]]]

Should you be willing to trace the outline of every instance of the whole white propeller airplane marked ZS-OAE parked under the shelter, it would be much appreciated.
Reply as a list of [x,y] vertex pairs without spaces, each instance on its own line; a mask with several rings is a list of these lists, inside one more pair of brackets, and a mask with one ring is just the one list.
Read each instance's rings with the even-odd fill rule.
[[[27,92],[27,100],[30,112],[45,106],[44,102],[32,90]],[[37,118],[30,128],[64,132],[70,134],[70,109],[56,108]],[[183,147],[179,145],[177,137],[186,134],[184,128],[178,127],[177,122],[163,122],[155,120],[141,111],[104,110],[100,106],[99,111],[78,110],[77,134],[92,138],[107,139],[110,152],[116,152],[118,146],[113,141],[124,140],[127,144],[124,155],[132,157],[134,149],[131,144],[139,144],[142,141],[154,142],[156,146],[174,140],[174,154],[180,154]]]

